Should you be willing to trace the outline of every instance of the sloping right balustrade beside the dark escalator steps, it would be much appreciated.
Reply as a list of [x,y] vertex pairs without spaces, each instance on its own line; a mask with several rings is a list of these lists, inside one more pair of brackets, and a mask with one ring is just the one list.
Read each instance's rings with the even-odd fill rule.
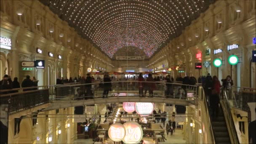
[[229,130],[230,141],[232,144],[240,144],[235,128],[235,123],[232,117],[231,107],[229,106],[229,100],[227,98],[227,93],[225,90],[223,90],[223,94],[224,100],[220,103],[223,109],[224,117],[226,119],[227,128]]

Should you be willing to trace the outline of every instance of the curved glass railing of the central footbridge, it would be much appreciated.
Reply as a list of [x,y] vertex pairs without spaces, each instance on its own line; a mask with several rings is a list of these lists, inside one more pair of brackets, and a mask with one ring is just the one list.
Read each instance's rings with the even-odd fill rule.
[[181,83],[112,81],[89,84],[51,85],[54,90],[52,100],[82,100],[93,98],[109,98],[112,96],[164,97],[183,99],[195,104],[198,96],[197,85]]

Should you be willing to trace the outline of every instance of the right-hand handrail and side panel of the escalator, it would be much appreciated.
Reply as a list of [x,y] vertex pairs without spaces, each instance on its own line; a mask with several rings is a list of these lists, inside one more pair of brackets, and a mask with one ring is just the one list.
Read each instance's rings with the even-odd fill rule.
[[[225,96],[225,101],[223,101],[221,103],[222,105],[222,109],[223,109],[223,112],[226,112],[226,117],[228,119],[228,124],[229,124],[229,127],[230,127],[230,132],[231,132],[231,135],[232,135],[232,140],[233,140],[233,144],[240,144],[239,143],[239,139],[238,139],[238,136],[237,136],[237,132],[236,132],[236,128],[235,128],[235,123],[234,123],[234,120],[233,120],[233,117],[232,117],[232,113],[231,113],[231,107],[229,106],[229,100],[227,98],[227,93],[225,91],[225,89],[223,90],[223,94]],[[226,104],[225,104],[226,103]],[[229,136],[230,137],[230,136]]]

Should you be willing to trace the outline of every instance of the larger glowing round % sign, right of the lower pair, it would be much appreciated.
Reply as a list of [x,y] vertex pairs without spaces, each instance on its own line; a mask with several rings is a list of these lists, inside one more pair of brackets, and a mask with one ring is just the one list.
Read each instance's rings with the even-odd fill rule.
[[123,126],[125,127],[125,137],[123,138],[125,144],[137,144],[141,141],[143,131],[139,123],[126,122]]

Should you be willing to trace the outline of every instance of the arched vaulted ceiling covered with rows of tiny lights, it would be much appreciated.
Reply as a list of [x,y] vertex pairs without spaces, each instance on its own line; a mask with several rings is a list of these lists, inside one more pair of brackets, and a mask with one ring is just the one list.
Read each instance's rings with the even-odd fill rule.
[[136,47],[151,57],[215,0],[40,0],[113,58]]

